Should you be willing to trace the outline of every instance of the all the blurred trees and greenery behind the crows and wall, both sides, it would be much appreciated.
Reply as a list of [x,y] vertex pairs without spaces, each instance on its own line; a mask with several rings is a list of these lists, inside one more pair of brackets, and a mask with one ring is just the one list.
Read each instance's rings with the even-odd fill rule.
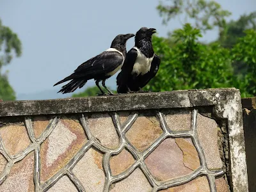
[[[236,87],[241,97],[256,96],[256,12],[227,18],[216,1],[170,0],[157,6],[163,25],[179,19],[183,28],[167,37],[153,36],[154,50],[161,57],[159,71],[144,88],[152,92]],[[185,15],[182,17],[181,15]],[[200,42],[207,31],[218,30],[214,42]],[[15,92],[1,68],[22,53],[17,34],[0,20],[0,99],[15,100]],[[74,93],[72,97],[96,95],[97,87]]]

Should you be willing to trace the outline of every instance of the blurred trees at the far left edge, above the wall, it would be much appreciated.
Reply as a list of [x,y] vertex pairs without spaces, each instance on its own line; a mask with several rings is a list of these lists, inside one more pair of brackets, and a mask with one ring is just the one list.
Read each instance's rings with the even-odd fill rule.
[[20,56],[22,52],[21,42],[16,33],[3,26],[0,19],[0,99],[15,100],[15,92],[8,82],[7,73],[2,73],[2,67],[10,64],[14,53]]

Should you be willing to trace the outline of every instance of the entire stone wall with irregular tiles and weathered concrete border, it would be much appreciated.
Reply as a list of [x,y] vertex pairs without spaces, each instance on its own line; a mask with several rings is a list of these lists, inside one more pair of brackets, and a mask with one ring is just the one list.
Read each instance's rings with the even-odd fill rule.
[[0,191],[248,191],[236,89],[0,102]]

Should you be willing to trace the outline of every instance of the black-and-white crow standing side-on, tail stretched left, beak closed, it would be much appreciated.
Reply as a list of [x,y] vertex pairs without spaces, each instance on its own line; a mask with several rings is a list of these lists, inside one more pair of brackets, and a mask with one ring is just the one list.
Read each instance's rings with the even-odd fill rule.
[[88,80],[95,79],[95,83],[102,95],[105,93],[99,86],[100,81],[102,81],[102,86],[106,88],[109,94],[113,95],[113,93],[106,87],[105,81],[120,70],[124,64],[127,54],[125,47],[126,42],[132,36],[135,35],[130,33],[126,35],[117,35],[109,49],[82,63],[77,67],[73,74],[54,84],[54,86],[72,80],[68,84],[65,84],[60,90],[63,94],[71,93],[77,88],[83,87]]

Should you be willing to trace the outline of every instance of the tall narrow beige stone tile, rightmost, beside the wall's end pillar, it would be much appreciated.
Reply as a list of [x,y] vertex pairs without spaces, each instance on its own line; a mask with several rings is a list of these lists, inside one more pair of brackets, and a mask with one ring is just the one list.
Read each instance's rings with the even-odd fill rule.
[[205,161],[210,170],[221,169],[223,164],[218,148],[218,125],[215,120],[198,114],[196,132]]

